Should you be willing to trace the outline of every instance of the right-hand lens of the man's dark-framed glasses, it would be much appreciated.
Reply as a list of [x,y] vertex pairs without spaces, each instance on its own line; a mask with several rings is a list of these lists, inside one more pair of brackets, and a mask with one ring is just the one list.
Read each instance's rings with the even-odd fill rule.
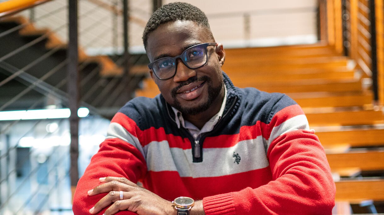
[[183,59],[190,68],[201,67],[207,62],[207,49],[202,46],[190,47],[184,51]]

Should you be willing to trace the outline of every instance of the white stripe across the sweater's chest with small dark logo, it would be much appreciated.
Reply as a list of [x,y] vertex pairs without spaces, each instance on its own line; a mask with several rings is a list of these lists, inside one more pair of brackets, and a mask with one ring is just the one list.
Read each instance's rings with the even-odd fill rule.
[[[269,166],[262,136],[243,140],[229,148],[203,148],[203,162],[192,162],[191,149],[170,148],[166,140],[151,142],[147,151],[147,167],[150,171],[177,171],[180,177],[216,177],[261,169]],[[235,163],[238,154],[240,163]]]

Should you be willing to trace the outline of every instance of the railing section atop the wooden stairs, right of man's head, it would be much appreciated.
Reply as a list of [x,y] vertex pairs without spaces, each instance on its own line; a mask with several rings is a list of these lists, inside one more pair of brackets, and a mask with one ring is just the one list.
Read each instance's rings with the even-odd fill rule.
[[207,14],[215,39],[235,47],[316,43],[317,16],[316,5]]

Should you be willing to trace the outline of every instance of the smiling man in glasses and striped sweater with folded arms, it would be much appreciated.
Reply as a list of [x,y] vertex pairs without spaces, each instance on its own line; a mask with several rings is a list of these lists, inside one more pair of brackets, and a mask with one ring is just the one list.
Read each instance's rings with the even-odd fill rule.
[[284,94],[233,86],[202,11],[164,5],[143,41],[161,94],[112,119],[75,214],[331,214],[334,182],[303,111]]

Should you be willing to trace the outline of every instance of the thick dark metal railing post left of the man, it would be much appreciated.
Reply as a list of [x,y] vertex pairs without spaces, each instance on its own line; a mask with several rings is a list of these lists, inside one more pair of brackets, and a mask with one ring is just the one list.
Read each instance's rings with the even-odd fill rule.
[[78,158],[79,158],[79,117],[77,110],[79,107],[79,73],[78,73],[78,1],[68,0],[68,101],[71,110],[70,132],[71,132],[71,190],[72,197],[79,180]]

